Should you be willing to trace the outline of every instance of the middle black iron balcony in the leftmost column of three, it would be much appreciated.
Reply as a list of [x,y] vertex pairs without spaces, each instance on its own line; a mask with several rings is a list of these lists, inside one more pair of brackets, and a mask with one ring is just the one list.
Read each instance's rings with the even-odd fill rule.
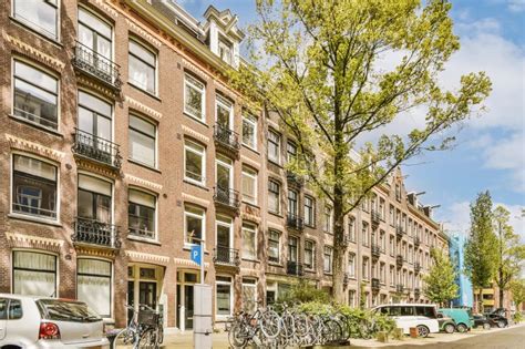
[[82,157],[107,165],[114,170],[121,168],[121,152],[119,144],[75,129],[72,151]]

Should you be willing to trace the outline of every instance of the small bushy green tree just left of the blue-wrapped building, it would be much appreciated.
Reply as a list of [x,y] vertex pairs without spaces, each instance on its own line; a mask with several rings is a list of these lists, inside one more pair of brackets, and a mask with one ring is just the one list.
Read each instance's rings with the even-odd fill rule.
[[423,277],[425,283],[423,291],[431,301],[441,306],[447,305],[457,297],[460,289],[456,285],[457,273],[454,263],[436,248],[432,249],[431,257],[433,265],[430,273]]

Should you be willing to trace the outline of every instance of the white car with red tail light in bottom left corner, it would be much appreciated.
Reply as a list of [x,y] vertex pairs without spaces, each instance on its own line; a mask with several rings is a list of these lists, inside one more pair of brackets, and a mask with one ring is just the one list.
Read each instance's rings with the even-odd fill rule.
[[84,302],[0,294],[0,347],[110,348],[102,318]]

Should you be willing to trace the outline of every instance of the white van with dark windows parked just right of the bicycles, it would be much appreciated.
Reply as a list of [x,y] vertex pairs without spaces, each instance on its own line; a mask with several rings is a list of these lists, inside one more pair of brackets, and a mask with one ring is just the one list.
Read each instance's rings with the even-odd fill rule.
[[429,333],[440,331],[437,311],[433,305],[393,304],[375,307],[372,311],[381,312],[394,319],[397,327],[402,328],[405,335],[410,333],[411,327],[418,329],[418,336],[420,337],[428,337]]

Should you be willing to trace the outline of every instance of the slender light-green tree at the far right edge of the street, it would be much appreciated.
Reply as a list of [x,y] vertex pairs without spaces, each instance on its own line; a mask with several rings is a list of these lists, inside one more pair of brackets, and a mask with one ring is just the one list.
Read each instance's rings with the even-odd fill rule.
[[494,209],[495,229],[497,230],[497,260],[495,281],[500,289],[500,308],[503,308],[505,290],[513,278],[519,276],[525,259],[525,245],[519,243],[519,235],[508,224],[511,213],[503,206]]

